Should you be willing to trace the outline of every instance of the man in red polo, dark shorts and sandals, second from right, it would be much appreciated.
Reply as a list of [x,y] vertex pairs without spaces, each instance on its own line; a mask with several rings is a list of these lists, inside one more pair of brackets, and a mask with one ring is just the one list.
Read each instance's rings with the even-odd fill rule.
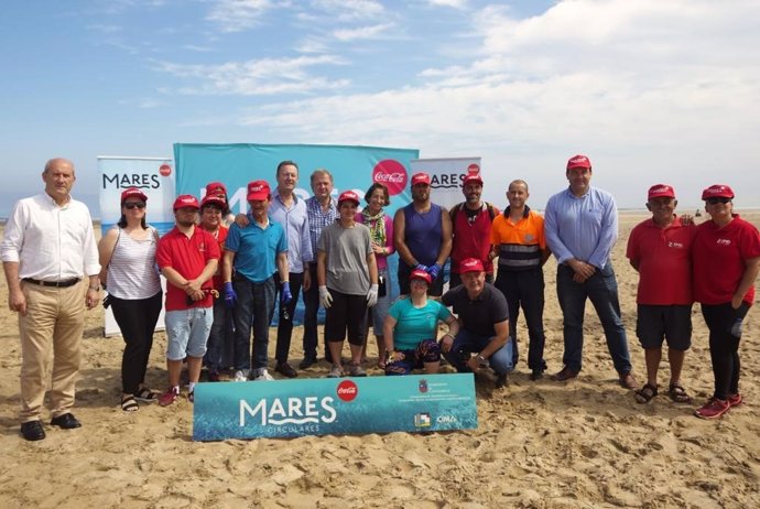
[[647,383],[636,392],[639,403],[658,396],[663,339],[671,366],[667,393],[675,402],[691,399],[681,385],[681,369],[692,344],[691,256],[696,228],[681,224],[674,214],[677,204],[672,186],[650,187],[647,208],[652,218],[637,225],[628,238],[626,256],[639,271],[636,331],[647,361]]

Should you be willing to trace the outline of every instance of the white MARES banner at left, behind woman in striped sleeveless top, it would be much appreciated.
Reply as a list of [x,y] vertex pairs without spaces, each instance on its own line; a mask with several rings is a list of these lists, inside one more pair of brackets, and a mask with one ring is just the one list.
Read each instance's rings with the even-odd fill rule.
[[[118,158],[98,156],[100,173],[100,232],[106,231],[121,217],[121,192],[127,187],[139,187],[148,196],[148,224],[161,235],[174,226],[172,203],[174,202],[174,163],[171,158]],[[166,291],[166,282],[161,278]],[[120,334],[109,307],[105,313],[106,336]],[[156,331],[163,331],[164,312],[161,310]]]

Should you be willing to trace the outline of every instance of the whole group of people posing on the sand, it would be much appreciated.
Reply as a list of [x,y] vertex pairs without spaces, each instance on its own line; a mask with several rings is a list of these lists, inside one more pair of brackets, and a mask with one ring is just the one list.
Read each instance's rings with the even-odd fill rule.
[[[647,382],[632,375],[626,328],[610,253],[618,237],[612,196],[590,185],[591,163],[569,159],[568,186],[553,195],[543,216],[532,210],[528,183],[512,181],[503,212],[482,201],[479,174],[463,180],[465,201],[450,210],[431,199],[431,177],[411,177],[412,202],[391,218],[388,188],[374,183],[363,196],[333,196],[333,175],[311,175],[313,196],[298,197],[298,166],[283,161],[276,187],[253,181],[247,187],[250,212],[230,215],[227,188],[208,184],[198,203],[177,196],[175,227],[159,237],[146,221],[148,196],[130,187],[121,194],[121,217],[96,245],[87,207],[70,197],[74,165],[47,162],[44,193],[17,203],[1,246],[9,306],[19,313],[22,345],[21,433],[42,440],[40,421],[53,353],[51,424],[80,426],[73,415],[85,308],[106,305],[124,339],[121,408],[140,402],[173,403],[180,396],[183,362],[192,401],[202,366],[217,381],[227,367],[234,379],[272,380],[269,327],[279,323],[274,370],[298,375],[289,361],[296,301],[303,293],[304,357],[298,369],[317,361],[317,313],[325,308],[324,357],[329,377],[366,376],[362,360],[369,325],[387,375],[414,369],[437,372],[444,357],[460,372],[490,366],[502,387],[519,361],[517,320],[524,313],[532,380],[543,377],[543,266],[557,261],[556,292],[563,313],[563,368],[557,381],[576,378],[583,365],[585,303],[591,301],[620,383],[637,401],[658,396],[662,344],[669,344],[669,396],[691,400],[681,382],[691,345],[694,301],[709,329],[715,391],[696,415],[715,419],[741,404],[741,326],[753,302],[760,270],[757,228],[732,210],[727,185],[706,188],[702,198],[710,219],[696,226],[675,215],[670,185],[649,189],[652,218],[638,225],[627,257],[639,271],[637,335],[644,348]],[[391,301],[388,257],[398,252],[401,297]],[[449,289],[444,270],[450,261]],[[495,279],[496,269],[496,279]],[[145,385],[153,332],[162,308],[160,274],[166,279],[166,367],[169,389],[158,394]],[[279,306],[276,305],[279,301]],[[449,311],[450,308],[450,311]],[[439,323],[447,332],[438,337]],[[251,345],[252,333],[252,345]],[[350,359],[341,359],[348,338]],[[346,372],[347,371],[347,372]]]

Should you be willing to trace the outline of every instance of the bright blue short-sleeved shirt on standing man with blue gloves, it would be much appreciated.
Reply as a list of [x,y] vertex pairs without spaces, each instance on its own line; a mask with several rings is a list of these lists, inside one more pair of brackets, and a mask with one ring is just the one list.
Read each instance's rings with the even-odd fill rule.
[[279,223],[269,221],[269,226],[261,228],[251,215],[246,228],[236,223],[229,227],[225,249],[234,251],[235,272],[245,275],[254,283],[262,283],[278,270],[276,258],[287,251],[285,230]]

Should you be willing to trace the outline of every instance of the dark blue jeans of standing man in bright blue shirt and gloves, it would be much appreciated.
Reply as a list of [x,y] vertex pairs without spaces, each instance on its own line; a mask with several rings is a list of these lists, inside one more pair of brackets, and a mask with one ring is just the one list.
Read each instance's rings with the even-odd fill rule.
[[[267,367],[269,325],[274,316],[274,277],[261,283],[235,277],[235,369]],[[253,361],[251,362],[251,324],[253,325]]]

